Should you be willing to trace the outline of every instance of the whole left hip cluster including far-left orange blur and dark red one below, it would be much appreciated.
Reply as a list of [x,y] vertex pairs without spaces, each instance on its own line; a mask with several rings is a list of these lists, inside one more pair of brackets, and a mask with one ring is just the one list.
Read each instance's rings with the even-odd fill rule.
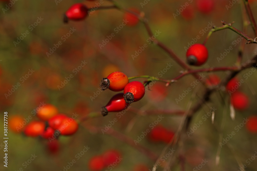
[[57,138],[60,135],[72,135],[78,129],[76,120],[65,114],[60,114],[58,109],[51,104],[44,105],[36,115],[40,120],[33,120],[29,123],[27,123],[28,118],[26,120],[20,116],[12,117],[10,129],[15,133],[23,132],[27,137],[48,139],[48,148],[51,152],[58,150]]

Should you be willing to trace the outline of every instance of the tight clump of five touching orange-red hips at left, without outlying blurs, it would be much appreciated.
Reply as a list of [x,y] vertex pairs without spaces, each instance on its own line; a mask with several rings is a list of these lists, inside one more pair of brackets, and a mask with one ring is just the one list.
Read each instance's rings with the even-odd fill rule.
[[78,129],[78,123],[65,114],[59,114],[58,109],[46,104],[38,112],[41,121],[32,121],[26,125],[24,134],[30,137],[41,136],[45,139],[53,138],[55,131],[60,135],[72,135]]

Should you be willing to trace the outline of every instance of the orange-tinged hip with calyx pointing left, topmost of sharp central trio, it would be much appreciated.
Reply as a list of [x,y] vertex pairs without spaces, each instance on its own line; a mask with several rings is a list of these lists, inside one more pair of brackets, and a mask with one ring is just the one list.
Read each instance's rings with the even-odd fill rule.
[[102,90],[106,90],[109,88],[114,92],[119,92],[124,89],[124,87],[128,84],[128,77],[126,74],[122,72],[113,72],[108,75],[106,78],[100,83],[100,87]]

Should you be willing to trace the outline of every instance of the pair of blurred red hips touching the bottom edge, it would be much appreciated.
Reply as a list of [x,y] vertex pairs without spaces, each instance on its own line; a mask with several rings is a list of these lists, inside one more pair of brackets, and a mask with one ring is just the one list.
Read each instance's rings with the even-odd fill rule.
[[121,161],[121,154],[115,149],[105,151],[101,155],[92,157],[88,162],[88,168],[92,171],[100,171],[104,168],[118,165]]

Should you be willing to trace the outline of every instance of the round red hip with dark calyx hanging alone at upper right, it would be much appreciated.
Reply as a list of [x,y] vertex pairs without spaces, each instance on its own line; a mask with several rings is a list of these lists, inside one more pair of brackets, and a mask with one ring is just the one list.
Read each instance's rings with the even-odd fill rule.
[[200,66],[208,59],[208,50],[202,44],[194,44],[187,50],[187,63],[189,65]]

